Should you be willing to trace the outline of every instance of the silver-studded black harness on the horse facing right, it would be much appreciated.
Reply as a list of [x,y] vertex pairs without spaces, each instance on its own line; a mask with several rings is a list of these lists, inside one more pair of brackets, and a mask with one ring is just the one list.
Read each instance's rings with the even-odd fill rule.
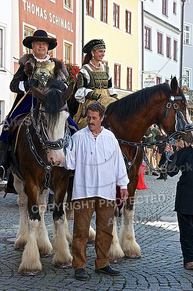
[[[149,161],[148,161],[148,159],[147,159],[147,157],[145,155],[144,147],[145,146],[153,146],[153,145],[162,145],[165,142],[168,142],[170,145],[173,145],[174,144],[174,141],[175,141],[174,138],[173,138],[174,136],[176,136],[178,134],[181,134],[181,133],[186,133],[188,131],[192,131],[193,130],[193,123],[191,123],[191,124],[187,124],[186,123],[186,121],[184,119],[184,116],[179,111],[178,106],[177,106],[177,103],[175,102],[175,100],[183,100],[183,98],[181,96],[176,96],[176,97],[171,96],[170,97],[170,102],[168,102],[166,104],[166,108],[165,108],[164,112],[162,113],[161,118],[156,123],[157,126],[159,127],[159,129],[161,130],[161,125],[160,125],[161,124],[161,121],[163,120],[163,118],[167,118],[168,117],[169,109],[171,108],[172,103],[173,103],[174,109],[176,111],[176,126],[175,126],[176,132],[172,133],[167,139],[161,140],[161,141],[158,141],[158,142],[149,142],[149,143],[144,143],[144,142],[135,143],[135,142],[128,142],[128,141],[125,141],[125,140],[122,140],[122,139],[117,139],[118,142],[119,142],[119,144],[128,145],[128,146],[136,146],[135,156],[132,159],[132,161],[129,161],[128,158],[127,158],[127,156],[122,151],[122,155],[123,155],[123,158],[124,158],[124,161],[125,161],[125,164],[126,164],[126,169],[127,169],[128,175],[129,175],[130,167],[133,165],[133,163],[136,160],[139,147],[141,148],[142,155],[143,155],[143,159],[144,159],[145,163],[152,170],[158,171],[157,169],[154,169],[154,167],[152,167],[152,165],[149,163]],[[107,115],[105,115],[103,121],[104,121],[104,123],[106,125],[106,128],[109,129],[109,130],[111,130],[110,126],[108,125],[108,122],[107,122],[107,119],[106,118],[107,118]],[[170,152],[168,152],[168,154],[166,155],[166,162],[164,164],[164,168],[165,169],[167,169],[168,161],[170,161],[169,160],[169,156],[170,156]],[[170,161],[171,162],[170,163],[170,170],[168,169],[167,170],[168,172],[172,172],[174,170],[176,161],[177,161],[177,151],[175,150],[175,152],[174,152],[174,159],[173,159],[173,161]],[[158,172],[161,172],[161,170],[159,170]]]

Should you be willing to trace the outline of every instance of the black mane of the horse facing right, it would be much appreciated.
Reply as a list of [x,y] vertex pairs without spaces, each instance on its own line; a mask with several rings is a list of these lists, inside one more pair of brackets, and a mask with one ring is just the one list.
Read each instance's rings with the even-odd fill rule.
[[[128,116],[134,116],[144,109],[156,94],[161,97],[162,91],[165,92],[168,99],[172,95],[172,90],[168,83],[158,84],[141,89],[110,103],[105,113],[107,116],[113,113],[117,122],[126,120]],[[186,102],[186,98],[182,90],[179,89],[179,91],[180,95],[183,97],[183,100]]]

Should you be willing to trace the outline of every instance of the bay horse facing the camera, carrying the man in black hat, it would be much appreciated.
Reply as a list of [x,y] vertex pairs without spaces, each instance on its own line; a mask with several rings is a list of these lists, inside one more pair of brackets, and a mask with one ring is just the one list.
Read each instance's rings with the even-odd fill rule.
[[[42,93],[32,87],[37,105],[21,122],[12,146],[11,170],[20,210],[15,249],[24,249],[18,269],[22,275],[39,274],[42,270],[40,257],[51,255],[53,249],[56,267],[71,266],[71,236],[63,205],[70,171],[59,165],[64,161],[65,147],[70,139],[66,100],[73,84],[65,92],[61,84],[61,81],[50,79]],[[53,247],[44,223],[49,188],[55,194]]]

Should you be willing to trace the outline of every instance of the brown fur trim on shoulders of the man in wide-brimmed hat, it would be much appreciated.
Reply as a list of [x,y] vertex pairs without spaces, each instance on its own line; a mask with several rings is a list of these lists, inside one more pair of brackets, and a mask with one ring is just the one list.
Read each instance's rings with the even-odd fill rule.
[[[54,77],[57,80],[67,82],[68,72],[66,70],[66,66],[64,65],[64,63],[55,58],[50,58],[50,61],[55,63]],[[32,76],[36,64],[37,61],[32,53],[25,54],[23,57],[19,59],[19,65],[24,66],[24,73],[29,77]]]

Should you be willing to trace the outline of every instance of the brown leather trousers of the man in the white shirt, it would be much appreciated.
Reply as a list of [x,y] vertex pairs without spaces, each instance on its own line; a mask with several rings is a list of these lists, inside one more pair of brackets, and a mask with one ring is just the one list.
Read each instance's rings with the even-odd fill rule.
[[75,270],[86,267],[86,243],[94,210],[96,211],[95,267],[100,269],[110,264],[108,252],[113,240],[114,205],[115,201],[100,197],[73,200],[72,266]]

